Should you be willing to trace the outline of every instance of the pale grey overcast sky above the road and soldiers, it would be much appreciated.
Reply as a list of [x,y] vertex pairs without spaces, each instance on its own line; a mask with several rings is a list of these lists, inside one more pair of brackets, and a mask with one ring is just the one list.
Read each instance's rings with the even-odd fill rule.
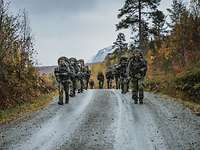
[[[38,52],[38,65],[56,65],[60,56],[90,60],[117,37],[115,24],[124,0],[13,0],[11,12],[24,8]],[[171,0],[162,0],[165,11]],[[165,11],[166,12],[166,11]],[[126,31],[127,32],[127,31]]]

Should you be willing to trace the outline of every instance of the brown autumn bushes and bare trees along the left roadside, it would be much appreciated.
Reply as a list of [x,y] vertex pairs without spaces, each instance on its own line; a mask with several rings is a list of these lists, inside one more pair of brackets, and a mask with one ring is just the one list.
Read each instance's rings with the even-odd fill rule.
[[52,76],[35,67],[33,41],[27,12],[10,14],[8,1],[0,0],[0,122],[42,105],[55,91]]

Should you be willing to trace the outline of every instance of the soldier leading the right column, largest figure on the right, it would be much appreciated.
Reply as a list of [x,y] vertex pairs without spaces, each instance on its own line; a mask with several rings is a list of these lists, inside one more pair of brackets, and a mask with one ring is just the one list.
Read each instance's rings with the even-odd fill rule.
[[129,60],[128,74],[132,83],[132,99],[135,104],[143,104],[144,98],[144,77],[147,71],[147,62],[141,51],[137,50]]

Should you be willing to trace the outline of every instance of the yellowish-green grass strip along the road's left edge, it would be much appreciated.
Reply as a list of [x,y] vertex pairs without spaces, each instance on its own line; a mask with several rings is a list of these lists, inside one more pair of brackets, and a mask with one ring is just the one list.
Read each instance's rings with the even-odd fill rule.
[[25,116],[25,114],[38,111],[49,104],[57,93],[45,94],[31,100],[29,102],[24,102],[18,104],[13,108],[8,108],[6,110],[0,110],[0,124],[6,124],[15,119]]

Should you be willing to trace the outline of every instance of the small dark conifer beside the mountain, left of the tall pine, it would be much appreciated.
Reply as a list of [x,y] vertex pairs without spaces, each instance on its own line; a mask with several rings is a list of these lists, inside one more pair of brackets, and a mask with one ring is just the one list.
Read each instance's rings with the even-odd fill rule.
[[126,41],[126,38],[125,38],[124,33],[119,33],[117,35],[116,41],[113,43],[113,48],[117,48],[120,51],[122,51],[123,49],[127,48],[127,45],[128,45],[127,43],[125,43],[125,41]]

